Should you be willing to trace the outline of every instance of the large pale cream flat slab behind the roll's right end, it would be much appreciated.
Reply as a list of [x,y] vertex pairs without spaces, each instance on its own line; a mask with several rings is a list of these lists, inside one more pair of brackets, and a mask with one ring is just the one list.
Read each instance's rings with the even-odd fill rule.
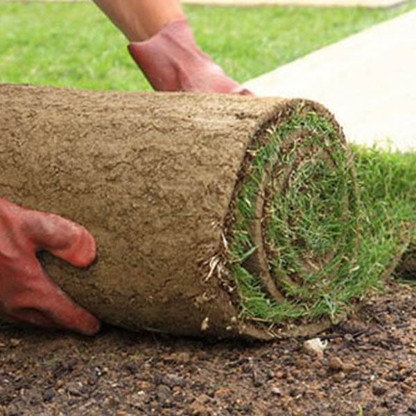
[[[261,52],[259,51],[261,58]],[[416,151],[416,10],[245,83],[324,104],[356,143]]]

